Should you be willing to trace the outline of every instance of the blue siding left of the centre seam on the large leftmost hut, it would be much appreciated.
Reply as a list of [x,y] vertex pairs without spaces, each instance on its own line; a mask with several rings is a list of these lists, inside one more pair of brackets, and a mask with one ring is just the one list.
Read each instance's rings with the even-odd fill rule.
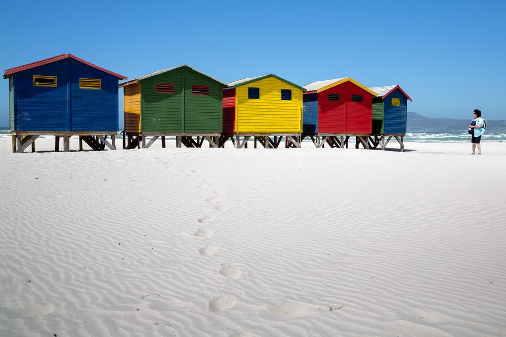
[[[67,60],[13,74],[17,131],[69,131]],[[56,87],[34,86],[33,75],[56,76]]]

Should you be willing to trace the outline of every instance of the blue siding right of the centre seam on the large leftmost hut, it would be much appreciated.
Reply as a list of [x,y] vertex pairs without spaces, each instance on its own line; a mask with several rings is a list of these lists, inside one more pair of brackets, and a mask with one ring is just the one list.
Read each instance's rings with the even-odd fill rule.
[[[118,78],[74,59],[70,63],[72,131],[118,131]],[[79,87],[79,78],[102,80],[101,89]]]

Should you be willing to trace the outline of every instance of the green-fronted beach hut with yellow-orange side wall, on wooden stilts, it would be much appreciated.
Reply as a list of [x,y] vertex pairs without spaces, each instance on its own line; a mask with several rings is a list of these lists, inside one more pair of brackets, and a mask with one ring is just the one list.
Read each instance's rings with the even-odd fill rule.
[[[188,65],[179,65],[119,84],[124,89],[124,148],[149,148],[165,136],[177,147],[201,147],[204,139],[218,147],[222,132],[225,83]],[[146,143],[146,136],[152,136]],[[194,138],[196,137],[196,138]],[[124,139],[124,138],[123,138]]]

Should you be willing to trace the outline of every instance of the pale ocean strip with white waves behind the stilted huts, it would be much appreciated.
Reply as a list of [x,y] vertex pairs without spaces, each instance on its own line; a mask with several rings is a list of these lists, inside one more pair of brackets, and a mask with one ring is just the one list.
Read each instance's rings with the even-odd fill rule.
[[[9,128],[0,128],[0,137],[10,137]],[[48,136],[49,137],[49,136]],[[122,137],[118,132],[118,138]],[[305,139],[305,141],[311,141]],[[409,142],[465,142],[471,141],[471,135],[467,132],[408,132],[404,141]],[[506,141],[506,133],[485,132],[481,141]]]

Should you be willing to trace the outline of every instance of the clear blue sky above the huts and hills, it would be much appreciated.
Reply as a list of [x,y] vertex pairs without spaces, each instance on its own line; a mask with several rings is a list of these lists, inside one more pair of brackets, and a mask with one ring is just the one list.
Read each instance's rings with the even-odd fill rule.
[[[506,119],[506,1],[3,1],[0,65],[63,53],[134,78],[188,64],[230,82],[400,84],[408,111]],[[0,81],[0,126],[9,83]],[[120,114],[122,116],[122,89]],[[122,119],[122,118],[121,118]]]

